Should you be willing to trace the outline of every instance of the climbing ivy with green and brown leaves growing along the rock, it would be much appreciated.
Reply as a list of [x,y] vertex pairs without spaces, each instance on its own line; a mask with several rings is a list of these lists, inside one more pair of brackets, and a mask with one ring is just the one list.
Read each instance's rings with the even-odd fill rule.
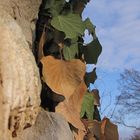
[[[41,105],[62,114],[76,140],[87,134],[85,119],[101,121],[95,96],[99,92],[88,91],[97,79],[96,68],[86,72],[86,64],[96,64],[102,52],[95,25],[89,18],[82,19],[89,1],[43,0],[33,49],[43,85]],[[88,44],[84,43],[85,30],[93,37]]]

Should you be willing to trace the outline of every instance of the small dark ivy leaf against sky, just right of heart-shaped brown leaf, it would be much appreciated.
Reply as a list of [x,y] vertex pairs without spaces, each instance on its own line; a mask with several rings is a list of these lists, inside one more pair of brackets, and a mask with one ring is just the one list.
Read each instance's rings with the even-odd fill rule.
[[96,79],[97,79],[96,68],[94,68],[92,72],[85,74],[85,83],[87,87],[89,87],[90,83],[94,83]]

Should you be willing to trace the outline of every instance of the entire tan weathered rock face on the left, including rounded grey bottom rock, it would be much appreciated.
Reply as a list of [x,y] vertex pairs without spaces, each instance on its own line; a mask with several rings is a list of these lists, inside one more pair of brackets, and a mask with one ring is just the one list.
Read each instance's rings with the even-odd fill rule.
[[28,44],[40,3],[0,0],[0,140],[73,140],[61,115],[39,109],[41,82]]

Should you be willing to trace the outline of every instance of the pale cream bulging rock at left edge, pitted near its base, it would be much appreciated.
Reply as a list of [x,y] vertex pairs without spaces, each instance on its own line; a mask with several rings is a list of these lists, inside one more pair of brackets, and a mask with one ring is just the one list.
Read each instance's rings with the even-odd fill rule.
[[9,140],[34,124],[40,90],[38,68],[25,36],[15,20],[0,9],[0,140]]

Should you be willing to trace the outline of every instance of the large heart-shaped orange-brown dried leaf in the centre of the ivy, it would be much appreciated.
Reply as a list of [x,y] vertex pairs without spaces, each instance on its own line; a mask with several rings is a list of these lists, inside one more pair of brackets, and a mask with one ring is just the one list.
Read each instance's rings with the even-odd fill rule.
[[43,57],[41,63],[45,83],[68,100],[83,80],[85,64],[78,59],[64,61],[53,56]]

